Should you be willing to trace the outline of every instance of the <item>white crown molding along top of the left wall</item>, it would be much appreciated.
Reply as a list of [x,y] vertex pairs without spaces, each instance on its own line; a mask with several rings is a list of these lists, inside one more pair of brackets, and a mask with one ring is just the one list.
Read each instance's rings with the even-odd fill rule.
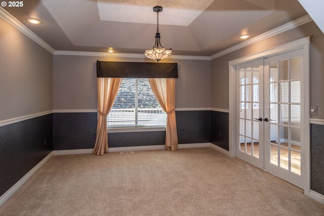
[[24,26],[21,22],[19,22],[15,17],[9,14],[5,9],[0,7],[0,17],[8,22],[10,25],[24,33],[27,37],[35,41],[37,44],[42,46],[44,49],[54,54],[55,50],[48,45],[41,37],[38,37],[34,32],[32,32],[29,28]]

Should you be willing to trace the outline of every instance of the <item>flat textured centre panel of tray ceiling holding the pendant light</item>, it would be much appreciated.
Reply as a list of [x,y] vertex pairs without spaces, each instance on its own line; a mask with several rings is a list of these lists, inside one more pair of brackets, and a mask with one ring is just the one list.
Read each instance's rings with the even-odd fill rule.
[[188,26],[201,12],[214,0],[177,0],[177,1],[116,1],[98,0],[101,20],[130,22],[130,23],[156,23],[154,6],[163,5],[164,10],[159,13],[159,24]]

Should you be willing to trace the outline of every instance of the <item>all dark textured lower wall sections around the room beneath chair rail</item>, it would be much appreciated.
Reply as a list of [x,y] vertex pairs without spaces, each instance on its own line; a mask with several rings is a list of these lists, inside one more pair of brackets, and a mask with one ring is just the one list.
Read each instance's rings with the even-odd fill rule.
[[[212,142],[228,150],[228,113],[176,111],[176,117],[179,144]],[[96,127],[97,113],[54,113],[1,126],[0,196],[52,150],[93,148]],[[311,124],[310,140],[311,190],[324,195],[324,125]],[[163,145],[165,132],[109,133],[108,142],[110,147]]]

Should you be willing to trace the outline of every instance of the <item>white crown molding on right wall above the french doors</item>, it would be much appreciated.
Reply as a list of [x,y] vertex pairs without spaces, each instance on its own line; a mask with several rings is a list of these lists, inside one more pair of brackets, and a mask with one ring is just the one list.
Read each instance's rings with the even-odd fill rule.
[[219,53],[216,53],[216,54],[210,56],[210,59],[213,60],[213,59],[216,59],[218,57],[224,56],[224,55],[226,55],[228,53],[231,53],[231,52],[234,52],[234,51],[239,50],[241,48],[250,46],[252,44],[255,44],[256,42],[259,42],[259,41],[264,40],[266,38],[269,38],[269,37],[272,37],[274,35],[280,34],[282,32],[288,31],[288,30],[290,30],[292,28],[296,28],[297,26],[303,25],[303,24],[308,23],[310,21],[312,21],[312,18],[309,15],[305,15],[305,16],[303,16],[301,18],[298,18],[298,19],[296,19],[294,21],[291,21],[291,22],[286,23],[284,25],[281,25],[281,26],[279,26],[277,28],[274,28],[274,29],[272,29],[270,31],[267,31],[267,32],[265,32],[263,34],[260,34],[260,35],[258,35],[256,37],[253,37],[253,38],[251,38],[249,40],[241,42],[240,44],[235,45],[235,46],[233,46],[231,48],[228,48],[228,49],[223,50],[223,51],[221,51]]

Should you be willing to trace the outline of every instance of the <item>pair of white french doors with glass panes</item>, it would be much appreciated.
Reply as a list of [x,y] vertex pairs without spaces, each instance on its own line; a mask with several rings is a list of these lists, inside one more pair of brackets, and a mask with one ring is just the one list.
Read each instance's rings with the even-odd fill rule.
[[236,66],[236,156],[300,188],[303,51]]

